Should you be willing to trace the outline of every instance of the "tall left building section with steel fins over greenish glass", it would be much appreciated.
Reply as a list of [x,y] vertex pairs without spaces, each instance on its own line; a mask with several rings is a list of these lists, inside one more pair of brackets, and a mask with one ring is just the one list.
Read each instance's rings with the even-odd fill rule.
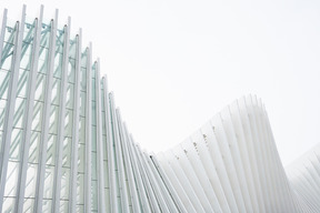
[[[1,212],[174,212],[180,207],[133,143],[81,30],[56,18],[0,36]],[[177,196],[176,196],[177,197]]]

